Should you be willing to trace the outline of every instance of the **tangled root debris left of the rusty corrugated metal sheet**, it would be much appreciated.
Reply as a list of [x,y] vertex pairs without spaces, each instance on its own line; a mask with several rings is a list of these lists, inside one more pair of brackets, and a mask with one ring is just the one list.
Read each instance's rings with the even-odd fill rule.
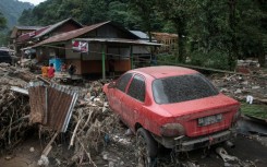
[[0,63],[0,148],[13,147],[23,138],[29,114],[28,97],[10,91],[34,80],[27,69]]

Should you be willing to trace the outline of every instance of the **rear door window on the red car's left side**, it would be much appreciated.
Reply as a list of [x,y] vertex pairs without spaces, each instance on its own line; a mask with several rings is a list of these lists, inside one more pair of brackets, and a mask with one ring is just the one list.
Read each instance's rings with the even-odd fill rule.
[[139,102],[144,102],[146,95],[145,79],[141,75],[135,75],[130,84],[128,94]]

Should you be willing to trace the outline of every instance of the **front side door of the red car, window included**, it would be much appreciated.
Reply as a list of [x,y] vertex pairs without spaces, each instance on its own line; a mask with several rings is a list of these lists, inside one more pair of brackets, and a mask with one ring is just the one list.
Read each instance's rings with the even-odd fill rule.
[[116,88],[109,91],[109,102],[111,108],[122,117],[121,100],[125,96],[125,91],[129,85],[130,80],[132,79],[132,73],[123,74],[117,82]]

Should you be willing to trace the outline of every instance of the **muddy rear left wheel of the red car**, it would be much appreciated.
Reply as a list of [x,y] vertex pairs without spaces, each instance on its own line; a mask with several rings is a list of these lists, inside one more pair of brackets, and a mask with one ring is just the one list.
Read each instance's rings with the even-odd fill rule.
[[157,142],[151,134],[143,128],[139,128],[136,133],[136,156],[138,167],[154,167],[156,166],[157,157]]

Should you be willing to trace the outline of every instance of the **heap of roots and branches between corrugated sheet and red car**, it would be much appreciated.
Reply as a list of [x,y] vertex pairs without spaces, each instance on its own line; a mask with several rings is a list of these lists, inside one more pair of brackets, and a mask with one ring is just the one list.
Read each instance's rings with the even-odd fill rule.
[[76,165],[97,166],[92,155],[100,153],[100,147],[110,142],[110,134],[118,127],[119,119],[110,111],[102,93],[106,82],[94,81],[86,85],[88,88],[74,88],[80,92],[80,99],[71,120],[69,147],[74,147],[71,162]]

